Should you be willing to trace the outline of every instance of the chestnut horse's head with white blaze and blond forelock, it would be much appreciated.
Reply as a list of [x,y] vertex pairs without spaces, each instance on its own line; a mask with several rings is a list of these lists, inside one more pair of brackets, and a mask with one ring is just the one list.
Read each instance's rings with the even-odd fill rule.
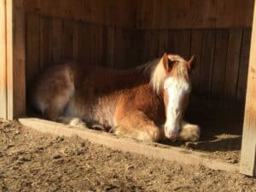
[[181,130],[183,113],[189,102],[190,74],[195,67],[195,57],[185,61],[179,55],[163,55],[157,64],[151,83],[160,93],[166,107],[165,135],[175,139]]

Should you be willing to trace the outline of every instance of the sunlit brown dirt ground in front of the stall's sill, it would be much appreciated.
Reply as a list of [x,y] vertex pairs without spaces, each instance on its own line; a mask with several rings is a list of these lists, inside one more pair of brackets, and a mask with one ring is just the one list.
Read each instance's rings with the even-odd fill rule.
[[256,178],[0,122],[0,191],[256,191]]

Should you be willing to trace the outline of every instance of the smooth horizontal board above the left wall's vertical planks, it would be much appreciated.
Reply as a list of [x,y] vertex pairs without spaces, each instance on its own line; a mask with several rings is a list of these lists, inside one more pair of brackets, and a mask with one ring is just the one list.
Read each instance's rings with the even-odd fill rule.
[[103,26],[136,26],[133,0],[23,0],[27,12]]

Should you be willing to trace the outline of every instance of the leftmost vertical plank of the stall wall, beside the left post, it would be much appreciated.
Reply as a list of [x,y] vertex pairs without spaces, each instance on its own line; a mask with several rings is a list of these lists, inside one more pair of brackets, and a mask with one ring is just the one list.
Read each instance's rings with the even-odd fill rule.
[[32,83],[40,70],[40,20],[39,15],[26,15],[26,83]]

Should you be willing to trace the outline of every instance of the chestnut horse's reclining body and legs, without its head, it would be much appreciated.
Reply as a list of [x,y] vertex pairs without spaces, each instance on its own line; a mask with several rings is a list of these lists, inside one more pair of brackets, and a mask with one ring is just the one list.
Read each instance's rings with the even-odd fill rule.
[[[165,91],[154,89],[152,78],[160,61],[124,71],[75,63],[50,67],[37,80],[32,103],[47,119],[79,117],[118,135],[158,141],[165,135]],[[189,126],[188,140],[198,139],[195,126]]]

